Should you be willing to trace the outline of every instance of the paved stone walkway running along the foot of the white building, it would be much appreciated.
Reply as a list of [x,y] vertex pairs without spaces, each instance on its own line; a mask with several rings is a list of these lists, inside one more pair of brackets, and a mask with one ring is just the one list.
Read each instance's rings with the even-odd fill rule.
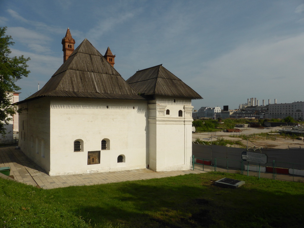
[[11,168],[10,175],[14,175],[15,180],[28,185],[39,185],[44,189],[146,180],[206,172],[200,170],[154,172],[149,169],[137,169],[118,172],[49,176],[40,166],[27,158],[22,151],[15,150],[15,147],[0,147],[0,167],[7,166]]

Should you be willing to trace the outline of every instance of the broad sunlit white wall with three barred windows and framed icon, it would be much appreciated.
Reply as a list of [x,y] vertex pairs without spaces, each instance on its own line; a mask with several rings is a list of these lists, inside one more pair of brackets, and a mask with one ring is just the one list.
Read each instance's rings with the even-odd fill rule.
[[[53,98],[50,126],[50,175],[146,168],[147,101]],[[74,152],[78,139],[83,151]],[[88,165],[88,151],[99,150],[100,164]]]

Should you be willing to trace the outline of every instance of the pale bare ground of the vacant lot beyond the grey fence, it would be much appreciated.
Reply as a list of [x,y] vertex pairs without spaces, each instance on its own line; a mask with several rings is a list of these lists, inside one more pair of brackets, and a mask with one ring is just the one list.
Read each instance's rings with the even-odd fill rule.
[[[269,132],[275,132],[281,129],[281,127],[269,127],[269,128],[238,128],[242,132],[240,133],[228,133],[228,132],[202,132],[202,133],[192,133],[192,141],[195,141],[196,138],[199,138],[200,140],[203,141],[208,141],[210,142],[210,137],[211,135],[218,138],[224,138],[224,140],[231,140],[231,141],[239,141],[241,138],[239,138],[239,134],[241,135],[252,135],[252,134],[257,134],[257,133],[269,133]],[[231,137],[234,136],[234,137]],[[212,140],[216,140],[215,138],[212,138]],[[246,146],[247,145],[247,140],[242,140],[242,143]],[[248,140],[248,147],[263,147],[263,148],[271,148],[271,149],[288,149],[288,146],[290,149],[304,149],[304,142],[303,140],[293,140],[291,138],[284,138],[280,135],[277,135],[275,139],[275,135],[268,135],[268,139],[264,136],[255,136],[255,137],[250,137]],[[232,147],[240,147],[238,145],[232,145]]]

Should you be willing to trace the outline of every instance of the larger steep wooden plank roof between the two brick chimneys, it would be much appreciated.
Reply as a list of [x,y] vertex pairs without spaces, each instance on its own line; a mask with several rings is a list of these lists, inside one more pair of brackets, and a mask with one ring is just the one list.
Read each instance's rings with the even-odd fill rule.
[[27,99],[40,97],[144,100],[87,39],[43,88]]

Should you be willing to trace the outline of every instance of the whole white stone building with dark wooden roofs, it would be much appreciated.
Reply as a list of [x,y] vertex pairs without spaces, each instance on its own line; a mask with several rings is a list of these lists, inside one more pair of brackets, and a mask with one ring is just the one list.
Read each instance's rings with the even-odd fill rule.
[[85,39],[19,102],[21,150],[49,175],[190,169],[191,99],[202,97],[162,65],[125,81],[114,57]]

